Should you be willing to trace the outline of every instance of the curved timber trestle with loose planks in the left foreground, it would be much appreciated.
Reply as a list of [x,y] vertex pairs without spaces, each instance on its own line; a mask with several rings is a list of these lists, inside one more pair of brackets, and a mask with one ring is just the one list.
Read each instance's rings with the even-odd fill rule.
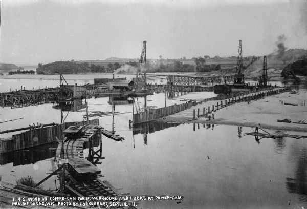
[[[100,159],[104,159],[104,157],[101,156],[102,153],[101,137],[103,132],[107,131],[100,126],[90,125],[90,124],[85,126],[83,129],[85,129],[85,131],[78,138],[65,139],[63,143],[59,143],[58,148],[56,150],[56,157],[51,162],[53,172],[56,172],[56,170],[62,168],[63,165],[60,165],[59,163],[61,159],[68,159],[70,162],[77,160],[81,161],[81,163],[85,162],[86,164],[87,162],[91,164],[91,166],[89,165],[84,166],[83,169],[85,171],[83,170],[83,174],[87,176],[82,178],[76,177],[74,173],[71,172],[71,170],[66,169],[64,173],[65,190],[78,197],[98,197],[98,196],[119,197],[122,195],[129,194],[129,193],[121,194],[107,181],[101,181],[99,179],[99,177],[103,177],[102,175],[100,175],[101,171],[94,166],[99,163],[98,161]],[[110,137],[111,135],[115,136],[110,133],[110,135],[107,134],[107,137],[113,139],[113,137]],[[122,139],[123,137],[116,136],[116,138]],[[98,148],[97,151],[94,151],[93,147],[97,146],[100,147]],[[85,158],[83,153],[84,148],[89,148],[89,155],[86,157],[87,160],[84,159]],[[95,170],[94,172],[99,173],[95,178],[93,178],[93,173],[94,173],[93,167]],[[80,166],[77,165],[76,168],[80,169]],[[58,172],[58,174],[59,174],[58,177],[61,181],[61,178],[63,178],[63,176],[61,176],[61,172]],[[122,201],[117,200],[114,202],[122,202]],[[135,207],[132,205],[128,205],[128,206],[118,206],[116,208],[135,208]]]

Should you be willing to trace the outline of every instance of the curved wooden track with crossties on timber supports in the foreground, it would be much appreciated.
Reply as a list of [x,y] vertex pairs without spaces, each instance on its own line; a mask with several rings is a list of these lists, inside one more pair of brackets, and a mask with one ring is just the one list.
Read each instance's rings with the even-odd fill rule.
[[[56,161],[53,161],[53,163],[57,162],[55,167],[61,168],[62,165],[59,164],[60,159],[68,158],[69,161],[68,170],[65,170],[64,176],[61,176],[61,179],[65,179],[64,187],[78,197],[122,196],[122,194],[107,181],[104,182],[97,178],[101,170],[99,170],[95,164],[98,163],[99,159],[103,159],[101,157],[101,131],[103,128],[95,125],[87,125],[83,129],[86,130],[82,131],[82,134],[78,138],[65,139],[63,145],[59,143],[57,148]],[[78,131],[77,128],[76,131]],[[95,144],[93,143],[95,143],[95,140],[98,138],[100,139],[100,144],[96,144],[96,146],[100,145],[100,149],[94,151],[93,147]],[[83,148],[85,147],[89,148],[87,160],[84,159],[83,155]],[[98,152],[100,153],[98,154]],[[94,161],[95,155],[98,156],[96,157],[98,158],[96,161]],[[125,208],[135,207],[129,205]]]

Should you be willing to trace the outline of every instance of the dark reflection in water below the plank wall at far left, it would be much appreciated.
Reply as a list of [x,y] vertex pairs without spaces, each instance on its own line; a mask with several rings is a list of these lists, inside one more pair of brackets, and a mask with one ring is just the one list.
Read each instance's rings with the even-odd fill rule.
[[49,143],[36,148],[0,154],[0,165],[13,162],[13,166],[34,164],[37,161],[55,157],[57,143]]

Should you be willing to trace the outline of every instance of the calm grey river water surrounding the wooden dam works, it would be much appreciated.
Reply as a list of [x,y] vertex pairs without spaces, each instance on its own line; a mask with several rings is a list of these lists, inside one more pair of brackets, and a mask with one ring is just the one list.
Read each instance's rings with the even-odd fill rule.
[[[58,86],[59,80],[20,79],[18,82],[17,79],[0,79],[2,85],[7,82],[5,88],[24,85],[26,89],[31,84],[34,88],[43,88],[47,85],[45,81],[50,82],[49,87],[54,87]],[[91,83],[90,79],[84,80],[79,75],[68,81],[78,85]],[[160,78],[153,81],[158,82]],[[40,86],[40,82],[45,83]],[[179,94],[179,97],[166,99],[166,105],[215,96],[213,92]],[[147,106],[165,105],[163,93],[146,99]],[[89,99],[89,111],[112,111],[108,100],[107,97]],[[142,107],[144,98],[138,98],[138,101]],[[243,135],[253,131],[248,127],[208,127],[193,123],[170,124],[166,129],[162,129],[160,123],[152,123],[148,127],[155,129],[147,130],[147,133],[142,129],[133,131],[128,126],[135,111],[133,107],[133,104],[115,106],[116,112],[125,113],[115,115],[114,120],[116,134],[124,136],[125,140],[113,141],[103,137],[105,159],[97,165],[105,176],[102,180],[122,187],[123,192],[131,195],[184,196],[183,200],[143,201],[140,208],[302,208],[307,204],[305,139],[256,141],[253,136]],[[64,112],[66,114],[65,121],[70,122],[81,121],[85,113],[83,109]],[[23,119],[0,123],[0,130],[27,127],[33,122],[60,122],[61,111],[53,109],[52,104],[0,109],[0,122],[17,118]],[[99,118],[102,127],[112,130],[112,116],[90,119],[94,118]],[[0,137],[11,135],[2,134]],[[45,178],[51,170],[48,159],[54,156],[49,147],[56,147],[56,144],[0,155],[2,180],[15,183],[27,175],[36,182]],[[84,151],[86,154],[87,150]],[[54,189],[55,180],[56,177],[52,177],[43,186]]]

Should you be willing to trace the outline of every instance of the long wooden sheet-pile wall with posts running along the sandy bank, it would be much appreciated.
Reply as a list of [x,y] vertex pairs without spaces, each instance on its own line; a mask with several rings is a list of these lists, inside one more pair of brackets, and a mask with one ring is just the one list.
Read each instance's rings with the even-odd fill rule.
[[[236,98],[238,96],[239,96],[239,99],[238,99],[239,101],[242,101],[243,98],[245,100],[248,100],[249,97],[251,97],[251,96],[245,96],[244,97],[244,95],[248,95],[250,93],[256,93],[256,92],[260,92],[260,91],[268,91],[268,92],[266,92],[266,93],[263,93],[263,92],[259,93],[258,94],[259,96],[260,96],[260,94],[262,94],[262,95],[263,94],[266,94],[266,95],[276,94],[277,92],[280,92],[281,89],[272,90],[272,88],[262,88],[262,89],[253,90],[253,91],[247,91],[247,92],[239,93],[239,94],[236,93],[236,94],[230,94],[230,95],[224,95],[224,96],[211,97],[211,98],[207,98],[207,99],[204,99],[202,101],[199,101],[199,102],[188,101],[188,102],[185,102],[185,103],[182,103],[182,104],[179,104],[179,105],[175,104],[175,105],[164,107],[164,108],[149,109],[147,111],[134,114],[133,115],[132,123],[134,125],[134,124],[139,124],[139,123],[143,123],[143,122],[149,122],[149,121],[157,120],[157,119],[169,116],[169,115],[176,114],[176,113],[178,113],[180,111],[189,109],[192,106],[196,106],[198,104],[201,104],[202,102],[207,102],[207,101],[212,101],[212,100],[225,100],[225,99],[228,99],[229,102],[230,102],[230,98],[232,98],[232,99],[235,98],[235,102],[236,102]],[[223,106],[223,101],[222,101],[221,105]],[[219,106],[221,107],[221,105],[219,105],[218,102],[217,102],[217,108],[219,108]]]

